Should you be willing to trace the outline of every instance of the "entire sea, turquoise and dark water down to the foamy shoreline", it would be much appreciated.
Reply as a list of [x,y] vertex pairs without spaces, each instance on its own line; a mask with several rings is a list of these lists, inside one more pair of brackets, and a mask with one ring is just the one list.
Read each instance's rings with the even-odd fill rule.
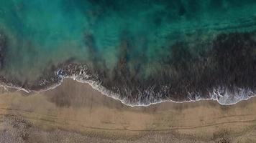
[[1,84],[73,77],[124,104],[255,95],[256,1],[0,1]]

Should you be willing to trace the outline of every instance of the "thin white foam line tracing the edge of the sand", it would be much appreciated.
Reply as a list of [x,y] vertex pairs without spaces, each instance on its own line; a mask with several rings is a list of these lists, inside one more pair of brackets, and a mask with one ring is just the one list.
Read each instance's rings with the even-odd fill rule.
[[3,82],[1,82],[0,87],[4,87],[4,89],[7,89],[7,90],[8,89],[17,89],[17,91],[24,91],[24,92],[27,92],[27,93],[31,93],[31,92],[39,93],[39,92],[46,92],[48,90],[55,89],[56,87],[58,87],[58,86],[60,86],[62,84],[64,79],[73,79],[76,82],[89,84],[93,89],[96,89],[97,91],[101,92],[101,94],[104,94],[106,97],[110,97],[112,99],[116,99],[116,100],[122,102],[122,104],[125,104],[125,105],[127,105],[129,107],[149,107],[150,105],[160,104],[160,103],[163,103],[163,102],[173,102],[173,103],[181,104],[181,103],[190,103],[190,102],[199,102],[199,101],[210,101],[210,100],[216,101],[219,104],[224,105],[224,106],[229,106],[229,105],[232,105],[232,104],[237,104],[238,102],[247,101],[248,99],[251,99],[252,97],[256,97],[256,95],[252,95],[250,97],[241,98],[241,99],[238,99],[236,102],[227,103],[227,104],[223,104],[223,103],[219,102],[219,99],[218,98],[214,98],[214,95],[212,95],[211,98],[208,98],[208,99],[202,99],[202,98],[196,99],[196,100],[191,99],[189,101],[183,101],[183,102],[175,102],[172,99],[165,99],[165,100],[160,99],[160,101],[152,102],[150,104],[140,104],[140,103],[137,103],[137,104],[127,104],[125,99],[120,99],[119,98],[120,97],[119,94],[116,94],[114,92],[109,91],[105,87],[101,86],[99,83],[96,83],[96,82],[94,82],[92,80],[78,79],[78,76],[75,76],[75,75],[68,76],[68,77],[62,77],[60,83],[55,84],[55,85],[53,85],[51,87],[48,87],[47,89],[41,89],[39,91],[24,89],[22,87],[16,87],[14,85],[4,84]]

